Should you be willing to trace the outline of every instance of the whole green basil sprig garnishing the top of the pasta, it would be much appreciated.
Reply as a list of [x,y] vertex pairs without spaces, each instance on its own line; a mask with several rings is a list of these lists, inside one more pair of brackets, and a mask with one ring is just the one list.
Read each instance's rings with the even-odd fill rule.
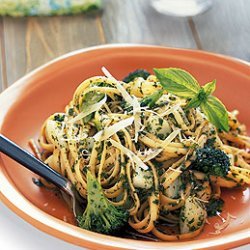
[[200,86],[187,71],[178,68],[154,69],[162,87],[169,93],[186,98],[186,108],[200,107],[208,120],[219,130],[228,131],[228,113],[223,103],[212,95],[216,81]]

